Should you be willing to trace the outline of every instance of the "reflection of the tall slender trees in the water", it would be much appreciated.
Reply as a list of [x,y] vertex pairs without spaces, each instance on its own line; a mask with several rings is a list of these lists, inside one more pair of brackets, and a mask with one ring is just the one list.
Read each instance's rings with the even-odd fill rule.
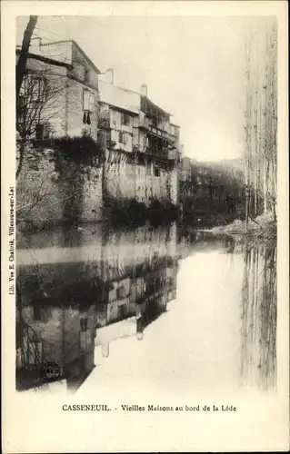
[[276,247],[245,245],[242,380],[265,390],[276,384]]

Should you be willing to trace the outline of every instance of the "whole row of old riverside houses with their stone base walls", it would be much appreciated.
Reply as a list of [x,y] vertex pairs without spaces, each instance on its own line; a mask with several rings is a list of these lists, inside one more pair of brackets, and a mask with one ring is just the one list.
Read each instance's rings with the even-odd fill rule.
[[[29,225],[100,221],[107,201],[177,205],[179,127],[148,98],[145,85],[136,93],[99,81],[100,71],[74,40],[33,40],[26,67],[17,132],[18,142],[29,139],[34,149],[25,151],[32,156],[22,163],[18,196],[28,206],[34,186],[45,201],[20,213]],[[93,147],[89,164],[83,144],[69,142],[84,138],[90,152]],[[64,143],[76,165],[66,158],[55,164],[54,151]]]

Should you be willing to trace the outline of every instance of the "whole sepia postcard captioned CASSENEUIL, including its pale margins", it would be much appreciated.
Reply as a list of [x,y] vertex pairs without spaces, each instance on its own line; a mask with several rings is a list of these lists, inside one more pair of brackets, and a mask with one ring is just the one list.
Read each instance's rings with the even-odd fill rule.
[[[262,409],[288,377],[279,361],[288,295],[279,298],[277,283],[279,247],[287,254],[278,233],[286,4],[166,15],[160,4],[177,11],[179,2],[153,2],[160,14],[104,15],[97,3],[84,2],[95,5],[87,15],[82,2],[71,2],[75,15],[56,5],[15,13],[15,175],[5,193],[15,399],[58,401],[44,430],[66,419],[63,452],[81,446],[69,445],[76,418],[80,433],[82,418],[87,433],[100,436],[96,418],[112,424],[106,437],[115,433],[105,445],[90,432],[85,452],[287,449],[286,419],[284,438],[272,426],[273,444],[271,431],[254,435],[271,427],[275,410],[265,419]],[[100,3],[114,11],[119,2]],[[246,415],[255,399],[256,417]],[[242,412],[255,427],[239,425],[245,445],[237,435],[232,445],[214,447],[210,433],[195,441],[215,418],[213,440],[218,430],[234,438]],[[20,413],[27,421],[15,433],[29,427],[39,440],[5,452],[60,452],[29,422],[38,410]],[[135,436],[122,417],[134,418]]]

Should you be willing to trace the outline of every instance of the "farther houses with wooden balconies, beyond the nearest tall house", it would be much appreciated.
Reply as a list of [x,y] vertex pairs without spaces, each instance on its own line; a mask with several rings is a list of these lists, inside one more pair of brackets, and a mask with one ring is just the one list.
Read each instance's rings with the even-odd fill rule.
[[105,196],[176,203],[179,128],[142,94],[100,82]]

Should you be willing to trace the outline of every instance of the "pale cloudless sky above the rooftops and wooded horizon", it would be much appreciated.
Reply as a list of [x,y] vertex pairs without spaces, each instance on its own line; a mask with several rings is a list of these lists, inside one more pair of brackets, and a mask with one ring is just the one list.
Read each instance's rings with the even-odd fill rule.
[[[17,19],[21,44],[27,17]],[[181,128],[184,153],[199,161],[243,150],[245,18],[230,16],[39,16],[35,35],[75,39],[114,83],[148,97]],[[44,43],[45,43],[44,39]]]

